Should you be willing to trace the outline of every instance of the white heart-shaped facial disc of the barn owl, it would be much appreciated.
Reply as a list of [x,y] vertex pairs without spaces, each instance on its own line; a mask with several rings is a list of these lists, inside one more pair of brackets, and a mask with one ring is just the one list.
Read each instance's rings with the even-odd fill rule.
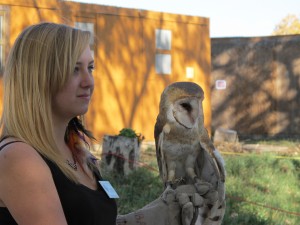
[[183,127],[192,129],[198,125],[201,115],[202,99],[196,97],[180,98],[174,102],[173,118]]

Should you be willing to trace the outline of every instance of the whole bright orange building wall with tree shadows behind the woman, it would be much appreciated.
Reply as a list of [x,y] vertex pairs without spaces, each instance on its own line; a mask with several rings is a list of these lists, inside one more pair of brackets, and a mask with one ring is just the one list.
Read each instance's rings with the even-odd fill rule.
[[[0,1],[0,5],[3,2],[11,1]],[[95,24],[95,91],[86,122],[97,139],[131,127],[142,133],[146,140],[153,140],[160,94],[171,82],[183,80],[196,82],[204,89],[205,126],[210,130],[207,18],[74,2],[57,1],[54,4],[55,0],[49,1],[49,5],[47,1],[41,1],[40,6],[29,0],[19,1],[23,6],[13,2],[14,6],[9,7],[10,45],[24,27],[43,20]],[[24,7],[26,3],[28,7]],[[170,75],[155,72],[155,53],[158,52],[155,29],[172,32]],[[193,79],[185,77],[186,67],[194,68]]]

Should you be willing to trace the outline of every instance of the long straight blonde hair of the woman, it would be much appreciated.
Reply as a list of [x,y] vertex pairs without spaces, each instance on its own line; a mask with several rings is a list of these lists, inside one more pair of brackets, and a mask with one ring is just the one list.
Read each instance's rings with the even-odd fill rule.
[[16,39],[4,72],[1,136],[28,143],[75,182],[56,146],[51,107],[89,40],[89,32],[64,24],[29,26]]

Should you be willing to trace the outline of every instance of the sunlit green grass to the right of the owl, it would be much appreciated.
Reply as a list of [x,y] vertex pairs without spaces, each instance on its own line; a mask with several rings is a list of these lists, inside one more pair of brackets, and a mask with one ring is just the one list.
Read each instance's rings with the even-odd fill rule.
[[[300,161],[275,155],[225,157],[224,224],[300,224]],[[284,210],[286,212],[282,212]]]

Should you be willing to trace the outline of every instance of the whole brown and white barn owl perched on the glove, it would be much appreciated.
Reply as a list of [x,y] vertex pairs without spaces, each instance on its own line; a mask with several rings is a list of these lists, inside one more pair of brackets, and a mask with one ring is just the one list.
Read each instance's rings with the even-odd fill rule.
[[[225,213],[224,161],[204,128],[204,92],[193,82],[176,82],[161,94],[154,136],[166,190],[193,184],[204,205],[183,224],[220,225]],[[165,196],[162,196],[164,199]]]

